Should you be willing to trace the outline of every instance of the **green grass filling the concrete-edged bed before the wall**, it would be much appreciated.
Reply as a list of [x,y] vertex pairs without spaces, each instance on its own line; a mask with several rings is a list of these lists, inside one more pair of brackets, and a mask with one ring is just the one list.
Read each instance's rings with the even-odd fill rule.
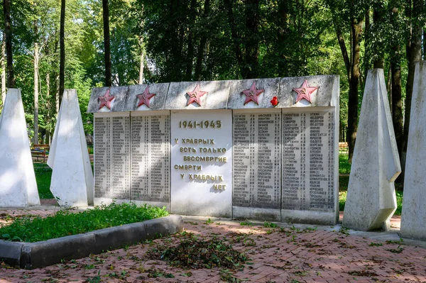
[[18,218],[11,225],[0,228],[0,239],[31,243],[163,216],[168,216],[165,208],[136,204],[112,203],[79,213],[61,210],[46,218]]

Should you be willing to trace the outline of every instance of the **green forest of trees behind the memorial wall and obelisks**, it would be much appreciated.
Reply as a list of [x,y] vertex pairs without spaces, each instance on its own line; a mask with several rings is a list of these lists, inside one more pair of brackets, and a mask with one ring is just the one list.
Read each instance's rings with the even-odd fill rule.
[[64,87],[77,89],[90,137],[92,87],[339,74],[339,140],[351,160],[367,72],[383,68],[404,166],[415,62],[426,59],[425,7],[425,0],[4,0],[0,110],[6,87],[20,88],[32,142],[50,143]]

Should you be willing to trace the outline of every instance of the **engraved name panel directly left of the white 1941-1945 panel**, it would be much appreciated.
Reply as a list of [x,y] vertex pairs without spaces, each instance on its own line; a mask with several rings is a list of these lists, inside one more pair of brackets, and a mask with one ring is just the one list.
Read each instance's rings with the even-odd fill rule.
[[170,202],[170,111],[131,112],[131,200]]

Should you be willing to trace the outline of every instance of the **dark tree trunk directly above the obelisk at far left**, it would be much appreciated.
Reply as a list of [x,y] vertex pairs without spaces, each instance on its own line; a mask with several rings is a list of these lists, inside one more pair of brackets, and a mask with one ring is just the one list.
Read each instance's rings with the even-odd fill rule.
[[3,1],[4,13],[4,33],[6,34],[6,58],[7,58],[7,87],[15,87],[15,77],[13,75],[12,56],[12,26],[11,26],[11,1]]

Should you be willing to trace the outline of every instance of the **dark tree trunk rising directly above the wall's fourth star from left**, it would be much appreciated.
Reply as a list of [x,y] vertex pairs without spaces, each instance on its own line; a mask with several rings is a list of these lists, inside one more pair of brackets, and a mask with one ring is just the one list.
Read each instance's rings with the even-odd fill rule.
[[258,25],[259,25],[259,0],[246,0],[246,62],[243,79],[258,77]]

